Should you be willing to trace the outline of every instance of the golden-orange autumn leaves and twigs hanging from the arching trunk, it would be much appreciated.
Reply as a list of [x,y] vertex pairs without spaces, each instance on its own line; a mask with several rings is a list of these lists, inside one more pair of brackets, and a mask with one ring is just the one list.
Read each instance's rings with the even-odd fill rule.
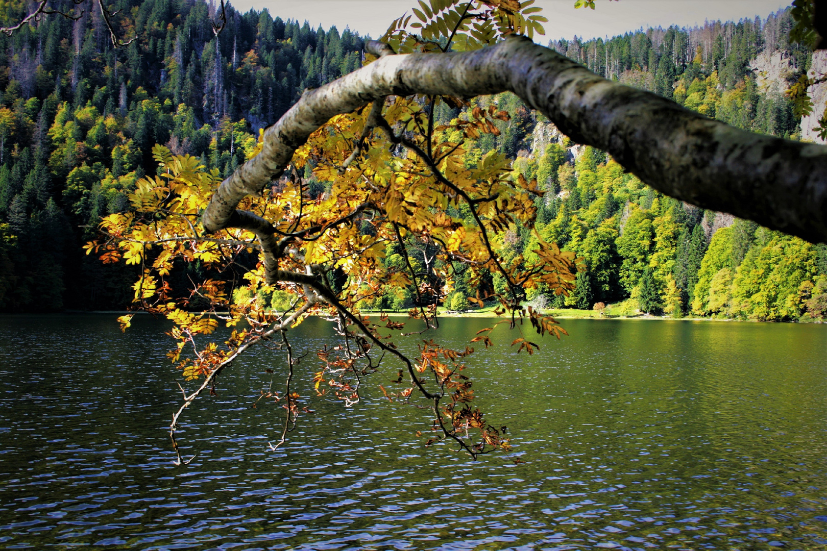
[[[542,31],[543,19],[528,15],[536,11],[531,3],[420,2],[423,9],[415,12],[420,23],[408,26],[411,17],[394,21],[385,40],[401,51],[445,51],[454,40],[466,49],[478,48],[512,32]],[[519,330],[512,343],[518,351],[532,354],[538,348],[523,335],[523,318],[540,335],[559,338],[565,333],[551,317],[523,309],[521,303],[526,291],[541,285],[557,294],[570,292],[582,269],[575,255],[539,235],[530,260],[523,255],[506,260],[493,245],[514,224],[533,226],[534,199],[543,191],[536,180],[514,177],[510,160],[499,151],[466,163],[467,142],[498,133],[493,121],[508,120],[509,114],[494,106],[474,107],[447,124],[435,124],[433,113],[440,102],[470,107],[457,97],[387,97],[361,112],[335,116],[314,132],[284,176],[238,206],[250,213],[245,216],[272,226],[279,239],[279,277],[268,283],[260,261],[243,273],[245,284],[235,292],[227,288],[227,275],[261,248],[255,235],[236,228],[205,235],[199,217],[221,181],[218,171],[155,145],[158,175],[142,178],[129,194],[133,211],[103,218],[101,237],[87,250],[103,262],[140,265],[141,277],[133,286],[136,307],[173,321],[170,336],[177,344],[170,359],[184,378],[201,380],[198,391],[184,392],[184,405],[171,426],[174,443],[184,408],[206,388],[213,389],[215,377],[232,359],[261,342],[288,352],[284,392],[259,398],[284,406],[283,442],[303,407],[300,392],[290,387],[297,362],[289,329],[315,315],[336,323],[341,340],[318,352],[314,392],[332,392],[351,406],[360,400],[359,387],[370,373],[398,371],[391,379],[401,389],[383,386],[382,391],[390,399],[404,400],[416,392],[430,402],[435,432],[426,444],[453,439],[472,456],[509,448],[500,430],[471,405],[474,391],[463,370],[475,353],[474,343],[463,350],[446,349],[423,335],[418,357],[409,357],[393,338],[402,335],[404,323],[362,311],[378,293],[413,286],[416,300],[410,318],[422,320],[425,331],[436,328],[437,305],[452,292],[461,269],[483,290],[471,302],[498,302],[497,313],[504,316],[500,323]],[[260,150],[261,141],[249,157]],[[332,182],[332,188],[311,192],[304,178],[308,173]],[[470,212],[472,223],[461,211]],[[404,257],[401,268],[385,264],[389,246]],[[430,259],[426,265],[412,258],[409,251],[414,250]],[[168,278],[176,263],[198,263],[213,276],[182,292]],[[490,285],[492,274],[504,278],[504,292]],[[194,310],[196,304],[203,309]],[[126,330],[131,316],[120,321]],[[222,345],[199,346],[197,335],[212,334],[219,324],[234,328],[229,339]],[[479,340],[485,348],[492,344],[488,334],[474,339]]]

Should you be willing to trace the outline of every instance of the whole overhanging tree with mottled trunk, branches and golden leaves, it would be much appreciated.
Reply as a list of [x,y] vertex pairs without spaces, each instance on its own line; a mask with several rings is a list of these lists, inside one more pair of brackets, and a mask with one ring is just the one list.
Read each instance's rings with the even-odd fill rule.
[[[494,121],[507,114],[495,106],[466,110],[447,124],[461,132],[461,140],[435,140],[435,131],[446,130],[434,124],[438,102],[461,107],[466,97],[508,90],[573,140],[608,151],[624,169],[672,197],[805,239],[827,239],[827,148],[740,131],[600,78],[521,36],[542,31],[543,19],[530,4],[421,2],[422,10],[394,21],[384,43],[368,45],[366,67],[305,92],[263,132],[251,159],[220,185],[217,171],[200,169],[198,159],[155,147],[159,175],[141,180],[131,194],[136,213],[106,217],[101,228],[108,239],[89,251],[103,253],[106,262],[141,266],[136,303],[174,321],[178,346],[170,358],[189,380],[203,378],[196,391],[184,392],[174,416],[176,450],[174,428],[184,408],[261,342],[288,353],[284,392],[262,395],[285,407],[284,441],[302,411],[291,387],[296,359],[288,330],[310,314],[327,316],[342,337],[337,348],[319,353],[317,392],[328,390],[351,405],[359,400],[363,378],[380,368],[382,358],[391,360],[409,385],[395,395],[407,399],[417,392],[430,401],[437,436],[428,443],[453,439],[471,455],[508,447],[500,430],[469,405],[471,383],[461,372],[471,346],[451,350],[425,341],[419,356],[410,357],[388,340],[402,324],[368,318],[357,307],[382,287],[412,285],[417,307],[411,316],[434,327],[436,305],[452,289],[460,264],[473,274],[471,288],[480,289],[472,302],[495,299],[516,330],[515,322],[525,317],[541,335],[563,332],[552,318],[520,304],[525,291],[539,285],[571,292],[578,272],[574,254],[538,239],[529,262],[522,253],[504,258],[494,246],[514,224],[533,224],[533,197],[543,192],[536,181],[512,178],[509,161],[495,150],[476,166],[461,160],[465,140],[496,134]],[[319,181],[332,183],[329,192],[310,197],[307,167]],[[452,216],[459,207],[471,221]],[[652,222],[646,222],[651,232]],[[674,248],[676,231],[669,235]],[[414,268],[406,239],[421,245],[430,268]],[[381,259],[394,241],[406,251],[404,269],[388,271]],[[183,298],[167,281],[175,262],[198,261],[218,274],[254,252],[260,263],[244,274],[251,297],[259,290],[288,292],[294,297],[288,310],[268,311],[255,299],[230,304],[218,278],[205,278]],[[642,307],[651,310],[659,297],[645,264],[648,253],[627,258],[643,268]],[[672,266],[663,272],[670,274]],[[486,291],[492,273],[504,282],[503,292]],[[197,297],[207,299],[209,308],[187,311]],[[236,327],[228,348],[198,347],[196,335],[212,333],[219,321]],[[122,323],[129,325],[129,316]],[[492,329],[480,331],[471,344],[490,346]],[[529,338],[521,332],[512,344],[531,354],[538,346]]]

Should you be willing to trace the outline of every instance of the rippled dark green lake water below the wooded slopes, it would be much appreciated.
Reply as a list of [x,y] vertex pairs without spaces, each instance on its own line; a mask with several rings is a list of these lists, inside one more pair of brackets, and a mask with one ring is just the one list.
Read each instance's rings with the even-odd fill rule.
[[498,330],[469,371],[514,453],[478,462],[423,449],[426,412],[380,377],[271,452],[261,349],[191,408],[175,467],[164,325],[114,317],[0,317],[2,549],[827,549],[827,325],[566,321],[531,357]]

